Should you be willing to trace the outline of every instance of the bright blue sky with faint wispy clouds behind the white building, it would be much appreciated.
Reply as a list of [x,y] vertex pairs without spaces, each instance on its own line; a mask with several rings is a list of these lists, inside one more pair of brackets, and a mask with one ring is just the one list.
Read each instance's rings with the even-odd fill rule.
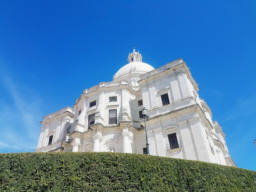
[[256,1],[0,0],[0,152],[34,152],[43,116],[112,80],[132,45],[190,67],[238,167],[256,171]]

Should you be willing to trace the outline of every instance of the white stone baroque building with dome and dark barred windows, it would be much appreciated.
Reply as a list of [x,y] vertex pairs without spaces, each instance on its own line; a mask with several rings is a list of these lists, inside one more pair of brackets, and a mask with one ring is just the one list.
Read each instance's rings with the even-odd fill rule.
[[236,166],[225,134],[199,98],[182,58],[154,69],[133,50],[111,82],[85,89],[73,108],[43,117],[36,152],[146,153]]

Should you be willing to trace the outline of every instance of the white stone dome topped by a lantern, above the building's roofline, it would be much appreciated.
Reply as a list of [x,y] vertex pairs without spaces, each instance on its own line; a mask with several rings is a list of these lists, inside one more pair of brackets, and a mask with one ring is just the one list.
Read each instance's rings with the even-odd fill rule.
[[126,80],[131,85],[138,86],[139,76],[154,70],[154,67],[142,62],[141,54],[139,51],[135,52],[135,49],[132,54],[129,53],[127,60],[129,63],[117,71],[113,77],[114,81]]

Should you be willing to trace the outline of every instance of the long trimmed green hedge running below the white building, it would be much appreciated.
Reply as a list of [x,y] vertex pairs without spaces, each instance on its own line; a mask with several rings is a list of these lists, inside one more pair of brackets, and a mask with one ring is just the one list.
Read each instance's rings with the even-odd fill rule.
[[256,172],[123,153],[0,154],[0,191],[256,191]]

